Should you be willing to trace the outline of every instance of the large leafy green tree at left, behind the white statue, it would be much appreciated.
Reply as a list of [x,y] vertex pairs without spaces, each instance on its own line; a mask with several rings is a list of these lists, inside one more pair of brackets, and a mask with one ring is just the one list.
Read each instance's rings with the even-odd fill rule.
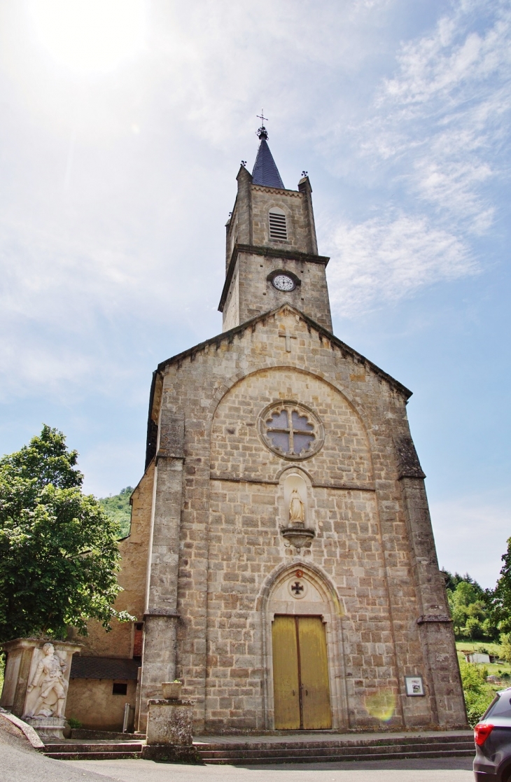
[[81,493],[77,451],[44,426],[28,446],[0,459],[0,641],[106,630],[115,617],[118,528]]

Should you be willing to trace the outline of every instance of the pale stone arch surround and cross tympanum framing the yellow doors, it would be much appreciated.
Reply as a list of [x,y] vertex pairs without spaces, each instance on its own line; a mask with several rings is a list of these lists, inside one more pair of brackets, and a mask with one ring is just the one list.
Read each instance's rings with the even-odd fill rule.
[[[298,590],[295,584],[303,587]],[[331,697],[332,730],[348,727],[345,665],[342,641],[344,607],[334,584],[315,565],[295,558],[281,565],[266,579],[257,608],[262,622],[264,717],[267,730],[274,730],[273,640],[276,615],[320,616],[327,640],[327,666]]]

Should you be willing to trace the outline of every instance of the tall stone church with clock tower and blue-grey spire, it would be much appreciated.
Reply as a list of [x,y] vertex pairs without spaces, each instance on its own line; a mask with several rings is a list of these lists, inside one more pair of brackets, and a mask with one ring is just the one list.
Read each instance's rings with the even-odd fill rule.
[[[227,222],[223,332],[156,368],[116,608],[66,716],[145,731],[183,682],[195,732],[466,726],[411,392],[334,336],[304,172],[259,128]],[[126,723],[125,723],[126,725]]]

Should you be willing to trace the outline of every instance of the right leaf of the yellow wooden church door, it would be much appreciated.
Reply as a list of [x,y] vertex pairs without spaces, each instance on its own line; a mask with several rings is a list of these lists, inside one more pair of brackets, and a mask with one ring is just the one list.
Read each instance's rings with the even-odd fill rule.
[[320,616],[298,618],[298,649],[302,685],[302,728],[331,728],[327,637]]

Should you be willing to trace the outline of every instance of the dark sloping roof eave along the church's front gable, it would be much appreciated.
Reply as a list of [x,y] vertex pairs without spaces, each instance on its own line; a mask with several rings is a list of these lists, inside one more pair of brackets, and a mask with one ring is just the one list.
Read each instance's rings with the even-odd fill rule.
[[405,397],[406,400],[409,399],[410,396],[412,396],[413,392],[410,391],[410,389],[406,388],[406,386],[403,386],[402,383],[400,383],[398,380],[393,378],[391,375],[388,375],[387,372],[385,372],[383,369],[379,368],[377,364],[373,364],[372,361],[370,361],[368,358],[363,356],[361,353],[358,353],[356,350],[353,350],[352,347],[347,345],[346,343],[343,343],[341,339],[338,339],[338,337],[334,336],[331,332],[327,330],[327,328],[323,328],[323,326],[320,326],[319,323],[316,323],[316,321],[313,321],[312,317],[309,317],[305,313],[302,312],[302,310],[298,310],[296,307],[293,307],[292,304],[281,304],[280,307],[277,307],[274,310],[268,310],[267,312],[264,312],[263,314],[256,315],[255,317],[252,317],[251,320],[245,321],[245,323],[241,323],[239,326],[235,326],[234,328],[230,328],[227,332],[222,332],[221,334],[218,334],[214,337],[211,337],[210,339],[206,339],[205,342],[198,343],[198,345],[195,345],[191,348],[188,348],[188,350],[184,350],[182,353],[177,353],[176,356],[172,356],[166,361],[162,361],[160,364],[158,364],[158,368],[156,369],[156,372],[162,373],[165,371],[165,369],[172,364],[180,364],[185,359],[195,355],[195,353],[199,353],[201,350],[204,350],[205,347],[209,347],[211,345],[220,345],[224,340],[227,340],[227,342],[233,342],[234,337],[244,332],[247,328],[251,328],[252,326],[259,323],[259,321],[265,321],[269,317],[273,317],[273,315],[276,315],[277,313],[281,312],[281,310],[290,310],[291,312],[295,312],[299,317],[302,318],[302,320],[306,323],[306,325],[309,325],[310,328],[313,328],[318,334],[323,336],[325,339],[329,340],[331,343],[333,343],[335,346],[337,346],[340,350],[344,350],[346,353],[349,353],[353,358],[356,358],[356,360],[360,364],[366,364],[375,375],[378,375],[378,377],[382,378],[390,386],[395,388],[398,393],[402,394],[402,396]]

